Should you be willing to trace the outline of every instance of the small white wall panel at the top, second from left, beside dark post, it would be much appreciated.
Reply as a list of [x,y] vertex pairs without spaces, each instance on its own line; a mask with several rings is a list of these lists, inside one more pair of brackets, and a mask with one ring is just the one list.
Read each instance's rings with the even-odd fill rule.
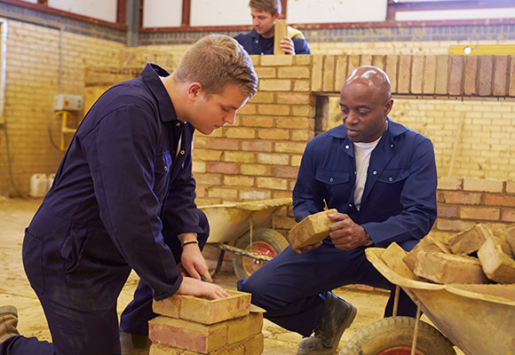
[[182,0],[145,0],[144,28],[178,28],[182,20]]

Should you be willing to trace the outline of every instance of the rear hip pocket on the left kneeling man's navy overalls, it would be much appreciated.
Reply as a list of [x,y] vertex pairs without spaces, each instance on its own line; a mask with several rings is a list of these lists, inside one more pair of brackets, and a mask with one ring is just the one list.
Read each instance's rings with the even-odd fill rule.
[[30,286],[34,288],[37,295],[43,295],[43,241],[28,233],[27,229],[25,230],[21,255],[23,256],[23,267]]

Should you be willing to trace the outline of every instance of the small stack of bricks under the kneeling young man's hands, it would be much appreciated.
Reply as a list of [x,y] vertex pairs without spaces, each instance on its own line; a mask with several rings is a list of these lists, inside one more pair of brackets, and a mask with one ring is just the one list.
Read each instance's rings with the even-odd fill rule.
[[161,314],[148,324],[150,355],[258,355],[263,313],[250,312],[250,294],[228,291],[218,300],[175,295],[154,301]]

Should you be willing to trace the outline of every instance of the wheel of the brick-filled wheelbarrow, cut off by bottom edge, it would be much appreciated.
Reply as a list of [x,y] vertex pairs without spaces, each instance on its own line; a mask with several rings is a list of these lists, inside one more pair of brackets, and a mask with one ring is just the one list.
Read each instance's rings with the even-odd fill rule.
[[[364,327],[345,343],[339,355],[409,355],[416,319],[389,317]],[[440,331],[419,321],[416,355],[456,355],[452,343]]]

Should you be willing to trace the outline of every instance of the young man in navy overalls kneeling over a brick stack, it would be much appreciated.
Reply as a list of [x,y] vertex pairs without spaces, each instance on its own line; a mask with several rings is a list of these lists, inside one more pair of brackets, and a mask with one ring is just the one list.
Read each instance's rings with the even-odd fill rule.
[[[194,130],[233,124],[257,88],[242,46],[210,35],[172,75],[148,63],[97,100],[23,241],[53,343],[19,335],[16,309],[2,306],[0,354],[146,353],[147,343],[131,349],[132,335],[147,337],[153,299],[228,296],[201,280],[210,280],[209,225],[194,202],[192,141]],[[131,270],[141,280],[121,321],[130,349],[121,349],[116,301]]]

